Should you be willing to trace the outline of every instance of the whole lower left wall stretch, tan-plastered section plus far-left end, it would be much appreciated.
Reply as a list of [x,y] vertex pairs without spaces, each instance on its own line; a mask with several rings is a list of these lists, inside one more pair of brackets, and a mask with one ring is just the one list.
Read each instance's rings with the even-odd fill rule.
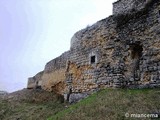
[[41,86],[44,90],[55,91],[62,94],[65,87],[64,80],[68,57],[69,51],[48,62],[44,71],[34,77],[28,78],[27,88]]

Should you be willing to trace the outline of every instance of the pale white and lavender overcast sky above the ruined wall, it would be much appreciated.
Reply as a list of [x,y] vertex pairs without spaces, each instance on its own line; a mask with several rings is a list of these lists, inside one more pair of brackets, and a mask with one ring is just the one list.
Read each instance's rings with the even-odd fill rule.
[[111,15],[114,1],[0,0],[0,90],[25,88],[76,31]]

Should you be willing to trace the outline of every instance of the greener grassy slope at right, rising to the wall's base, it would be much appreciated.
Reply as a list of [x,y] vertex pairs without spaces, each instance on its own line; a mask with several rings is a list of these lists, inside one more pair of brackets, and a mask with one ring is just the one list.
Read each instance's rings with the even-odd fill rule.
[[[125,113],[160,113],[160,89],[101,90],[48,120],[125,120]],[[142,118],[140,118],[142,119]]]

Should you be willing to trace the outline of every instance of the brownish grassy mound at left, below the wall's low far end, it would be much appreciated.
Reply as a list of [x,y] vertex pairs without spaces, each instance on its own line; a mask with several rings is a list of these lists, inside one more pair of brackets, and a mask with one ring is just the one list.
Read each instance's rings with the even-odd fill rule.
[[0,100],[0,120],[46,120],[65,105],[54,93],[24,89]]

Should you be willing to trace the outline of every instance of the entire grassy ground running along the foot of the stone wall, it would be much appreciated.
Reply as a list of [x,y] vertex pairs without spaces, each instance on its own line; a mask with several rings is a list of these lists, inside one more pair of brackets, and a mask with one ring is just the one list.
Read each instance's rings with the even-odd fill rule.
[[0,120],[135,120],[125,113],[160,113],[160,89],[105,89],[72,105],[53,93],[25,94],[18,101],[0,100]]

